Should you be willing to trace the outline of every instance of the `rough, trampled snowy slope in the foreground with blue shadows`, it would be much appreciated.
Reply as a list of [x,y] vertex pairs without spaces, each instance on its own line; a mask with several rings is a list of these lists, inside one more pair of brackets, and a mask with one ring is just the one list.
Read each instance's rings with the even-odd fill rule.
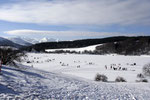
[[149,100],[149,83],[101,83],[27,68],[3,67],[0,100]]

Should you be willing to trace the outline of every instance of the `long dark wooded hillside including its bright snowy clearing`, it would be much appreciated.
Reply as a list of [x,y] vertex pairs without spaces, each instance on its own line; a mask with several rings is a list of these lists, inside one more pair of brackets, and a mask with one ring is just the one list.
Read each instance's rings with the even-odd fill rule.
[[[101,44],[100,46],[98,46]],[[89,46],[97,45],[89,50]],[[92,48],[93,48],[92,47]],[[94,47],[95,48],[95,47]],[[87,49],[87,50],[86,50]],[[75,41],[47,42],[24,48],[27,51],[53,51],[56,53],[90,53],[90,54],[122,54],[141,55],[150,54],[150,37],[109,37],[102,39],[87,39]]]

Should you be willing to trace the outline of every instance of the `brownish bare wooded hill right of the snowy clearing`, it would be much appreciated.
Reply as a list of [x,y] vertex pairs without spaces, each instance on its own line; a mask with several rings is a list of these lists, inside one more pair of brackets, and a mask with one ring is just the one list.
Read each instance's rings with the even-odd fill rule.
[[149,55],[150,37],[130,37],[124,41],[105,43],[101,46],[97,46],[96,52],[98,54]]

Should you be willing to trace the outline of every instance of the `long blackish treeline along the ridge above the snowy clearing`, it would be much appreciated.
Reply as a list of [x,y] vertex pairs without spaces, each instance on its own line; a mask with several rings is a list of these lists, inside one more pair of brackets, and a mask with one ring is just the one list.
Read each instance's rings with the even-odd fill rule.
[[130,37],[119,36],[119,37],[109,37],[109,38],[103,38],[103,39],[85,39],[85,40],[75,40],[75,41],[46,42],[46,43],[39,43],[39,44],[35,44],[32,46],[23,48],[23,50],[32,51],[34,49],[39,52],[39,51],[45,51],[45,49],[79,48],[79,47],[86,47],[86,46],[96,45],[96,44],[123,41],[128,38]]

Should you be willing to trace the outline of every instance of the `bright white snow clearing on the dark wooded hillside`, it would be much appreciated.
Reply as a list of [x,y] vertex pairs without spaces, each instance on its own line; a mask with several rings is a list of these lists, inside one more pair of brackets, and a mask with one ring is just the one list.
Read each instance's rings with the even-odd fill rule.
[[76,52],[83,52],[83,51],[85,51],[85,50],[87,50],[87,51],[94,51],[95,50],[95,48],[97,47],[97,46],[100,46],[100,45],[102,45],[102,44],[98,44],[98,45],[92,45],[92,46],[87,46],[87,47],[81,47],[81,48],[67,48],[67,49],[46,49],[45,51],[47,51],[47,52],[54,52],[54,51],[56,51],[56,50],[63,50],[63,51],[76,51]]

